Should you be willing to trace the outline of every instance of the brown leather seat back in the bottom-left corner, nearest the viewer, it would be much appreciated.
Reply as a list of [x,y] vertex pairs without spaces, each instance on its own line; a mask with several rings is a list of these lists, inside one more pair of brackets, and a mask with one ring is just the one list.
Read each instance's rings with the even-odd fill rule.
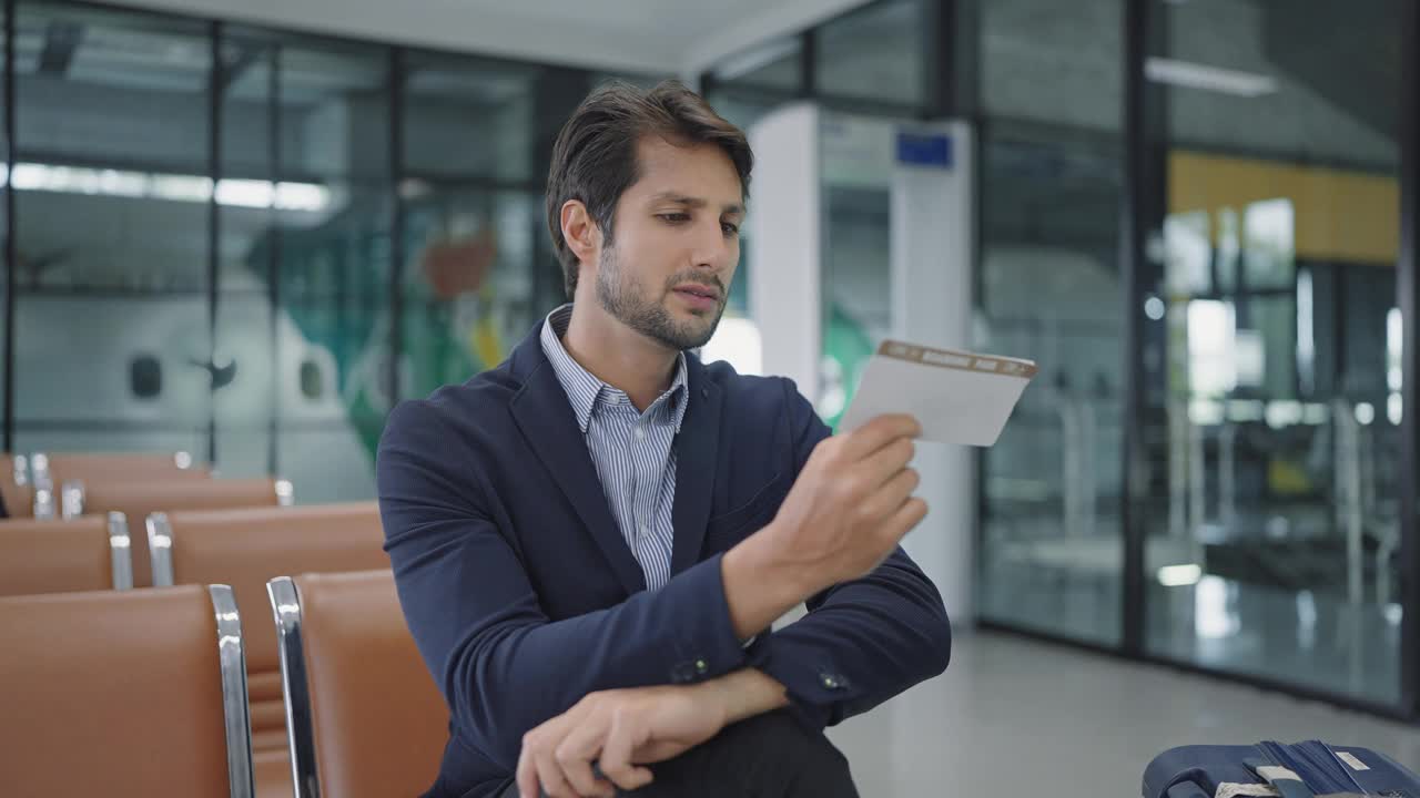
[[0,598],[6,795],[250,798],[224,585]]

